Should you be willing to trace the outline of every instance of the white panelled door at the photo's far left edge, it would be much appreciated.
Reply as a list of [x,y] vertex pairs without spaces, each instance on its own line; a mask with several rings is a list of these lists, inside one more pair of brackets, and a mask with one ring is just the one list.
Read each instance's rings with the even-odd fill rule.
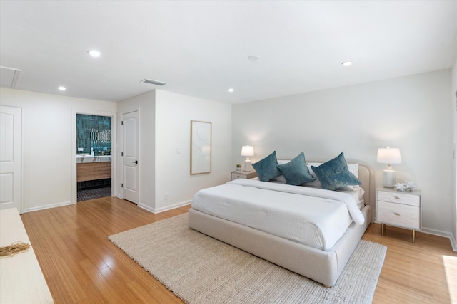
[[21,108],[0,105],[0,209],[21,210]]

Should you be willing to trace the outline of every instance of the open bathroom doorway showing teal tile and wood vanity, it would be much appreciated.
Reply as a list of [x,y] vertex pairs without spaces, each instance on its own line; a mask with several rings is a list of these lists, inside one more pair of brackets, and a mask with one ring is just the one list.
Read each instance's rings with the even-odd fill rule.
[[111,117],[76,114],[77,201],[111,196]]

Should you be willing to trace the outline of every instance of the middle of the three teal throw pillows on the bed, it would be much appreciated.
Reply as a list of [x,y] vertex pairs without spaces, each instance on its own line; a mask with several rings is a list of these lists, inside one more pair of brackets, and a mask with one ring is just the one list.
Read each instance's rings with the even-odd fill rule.
[[286,184],[299,186],[307,182],[313,182],[316,177],[313,177],[306,166],[305,154],[301,152],[290,162],[278,165],[279,171],[286,179]]

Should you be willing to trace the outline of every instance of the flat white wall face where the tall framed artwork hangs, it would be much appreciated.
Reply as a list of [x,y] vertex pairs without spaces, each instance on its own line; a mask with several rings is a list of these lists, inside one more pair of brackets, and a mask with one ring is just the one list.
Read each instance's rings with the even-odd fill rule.
[[[191,120],[211,122],[209,174],[190,174]],[[156,211],[189,204],[199,189],[228,182],[230,159],[231,105],[156,90]]]

